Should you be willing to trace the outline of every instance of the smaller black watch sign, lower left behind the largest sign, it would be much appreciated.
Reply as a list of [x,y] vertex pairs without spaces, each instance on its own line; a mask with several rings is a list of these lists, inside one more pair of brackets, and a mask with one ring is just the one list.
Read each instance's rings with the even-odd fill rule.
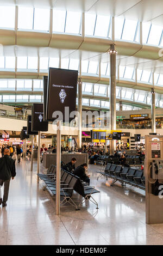
[[48,122],[43,121],[43,104],[34,103],[32,108],[32,131],[48,131]]

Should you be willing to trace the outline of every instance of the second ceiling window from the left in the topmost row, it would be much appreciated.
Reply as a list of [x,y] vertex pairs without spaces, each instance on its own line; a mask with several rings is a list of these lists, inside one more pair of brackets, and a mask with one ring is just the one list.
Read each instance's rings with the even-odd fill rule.
[[33,13],[34,8],[18,7],[18,28],[33,29]]

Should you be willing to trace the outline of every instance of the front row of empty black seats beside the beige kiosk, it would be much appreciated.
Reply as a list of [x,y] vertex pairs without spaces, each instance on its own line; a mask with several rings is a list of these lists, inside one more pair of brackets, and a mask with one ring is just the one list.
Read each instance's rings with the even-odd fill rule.
[[97,173],[99,173],[97,180],[100,176],[105,176],[106,180],[108,178],[114,180],[112,184],[116,181],[120,181],[123,186],[129,184],[145,190],[145,176],[143,176],[143,170],[107,163],[104,170],[99,170]]

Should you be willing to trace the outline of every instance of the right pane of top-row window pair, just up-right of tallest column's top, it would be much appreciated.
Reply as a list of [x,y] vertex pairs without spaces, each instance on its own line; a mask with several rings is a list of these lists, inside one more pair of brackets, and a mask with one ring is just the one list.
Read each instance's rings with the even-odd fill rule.
[[137,21],[125,20],[121,39],[127,40],[127,41],[134,41],[136,36],[136,28],[137,28]]

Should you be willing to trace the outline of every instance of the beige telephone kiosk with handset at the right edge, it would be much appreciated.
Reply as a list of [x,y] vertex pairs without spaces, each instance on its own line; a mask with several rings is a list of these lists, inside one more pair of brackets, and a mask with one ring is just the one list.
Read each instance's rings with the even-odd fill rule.
[[163,223],[163,136],[146,135],[146,223]]

